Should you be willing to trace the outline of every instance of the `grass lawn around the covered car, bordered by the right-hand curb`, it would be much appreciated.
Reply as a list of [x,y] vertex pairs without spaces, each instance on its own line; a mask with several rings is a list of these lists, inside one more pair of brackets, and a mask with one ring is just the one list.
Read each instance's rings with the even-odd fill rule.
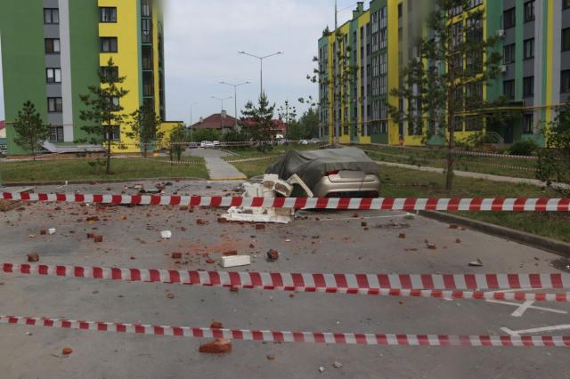
[[[276,158],[255,162],[235,163],[242,173],[253,177],[263,174]],[[397,167],[380,167],[381,196],[385,198],[559,198],[551,189],[525,184],[502,183],[455,177],[452,194],[445,190],[441,173],[424,173]],[[507,228],[523,230],[544,237],[570,242],[570,214],[459,212],[454,213]]]

